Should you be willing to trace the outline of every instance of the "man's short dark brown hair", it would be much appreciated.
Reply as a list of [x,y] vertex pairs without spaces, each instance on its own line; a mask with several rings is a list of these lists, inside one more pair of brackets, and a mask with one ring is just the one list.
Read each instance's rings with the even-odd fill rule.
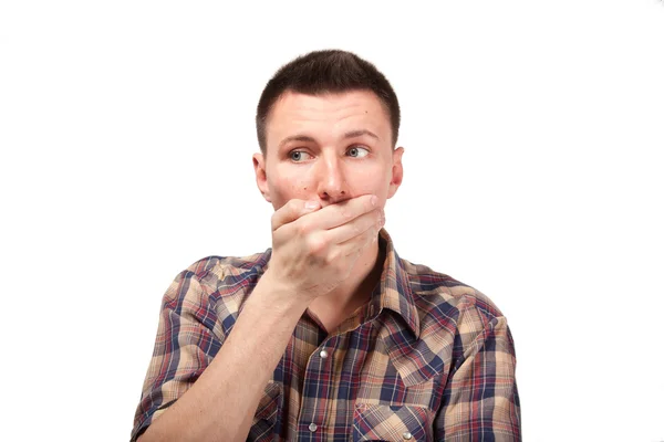
[[314,51],[281,66],[263,88],[256,109],[256,134],[266,154],[266,124],[277,99],[287,91],[319,95],[351,91],[372,91],[385,106],[396,144],[401,112],[398,99],[385,75],[357,55],[340,50]]

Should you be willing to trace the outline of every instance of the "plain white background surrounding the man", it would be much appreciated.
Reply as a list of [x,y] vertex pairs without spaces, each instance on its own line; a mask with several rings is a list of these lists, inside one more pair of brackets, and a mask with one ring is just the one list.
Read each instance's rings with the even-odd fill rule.
[[0,6],[0,439],[128,440],[170,281],[270,245],[262,86],[341,48],[401,99],[397,251],[508,317],[525,439],[664,440],[664,3],[276,3]]

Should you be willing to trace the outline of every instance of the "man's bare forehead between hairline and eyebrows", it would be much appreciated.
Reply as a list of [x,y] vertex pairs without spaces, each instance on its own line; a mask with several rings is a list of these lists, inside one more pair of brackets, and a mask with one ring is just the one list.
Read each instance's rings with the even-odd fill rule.
[[333,135],[367,129],[390,138],[388,113],[371,91],[350,91],[308,95],[284,92],[272,106],[267,122],[268,145],[293,133]]

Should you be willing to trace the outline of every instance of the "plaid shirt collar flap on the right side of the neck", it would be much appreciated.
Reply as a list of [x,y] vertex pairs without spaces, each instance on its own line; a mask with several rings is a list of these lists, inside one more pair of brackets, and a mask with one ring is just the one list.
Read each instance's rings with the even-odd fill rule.
[[372,294],[370,316],[373,316],[372,311],[375,311],[376,315],[383,309],[393,311],[404,319],[417,339],[419,338],[419,316],[413,299],[408,273],[396,254],[392,238],[385,229],[380,232],[380,241],[381,246],[385,250],[385,262],[380,285]]

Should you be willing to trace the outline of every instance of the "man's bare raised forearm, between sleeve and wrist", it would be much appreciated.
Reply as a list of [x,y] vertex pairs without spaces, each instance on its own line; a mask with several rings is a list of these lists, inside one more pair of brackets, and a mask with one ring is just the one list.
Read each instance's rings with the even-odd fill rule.
[[199,379],[141,436],[151,441],[245,441],[262,391],[307,304],[280,292],[269,271]]

